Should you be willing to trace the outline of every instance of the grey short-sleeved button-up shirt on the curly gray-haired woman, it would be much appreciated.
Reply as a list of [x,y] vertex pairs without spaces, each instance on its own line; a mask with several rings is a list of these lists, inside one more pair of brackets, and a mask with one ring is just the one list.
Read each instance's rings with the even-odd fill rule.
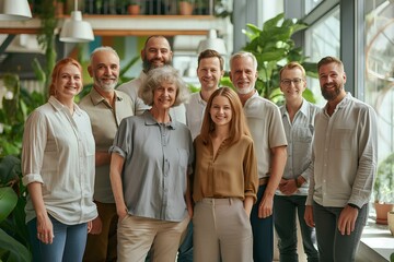
[[121,174],[128,213],[181,222],[187,214],[187,171],[193,142],[181,122],[158,123],[149,110],[125,118],[109,152],[125,158]]

